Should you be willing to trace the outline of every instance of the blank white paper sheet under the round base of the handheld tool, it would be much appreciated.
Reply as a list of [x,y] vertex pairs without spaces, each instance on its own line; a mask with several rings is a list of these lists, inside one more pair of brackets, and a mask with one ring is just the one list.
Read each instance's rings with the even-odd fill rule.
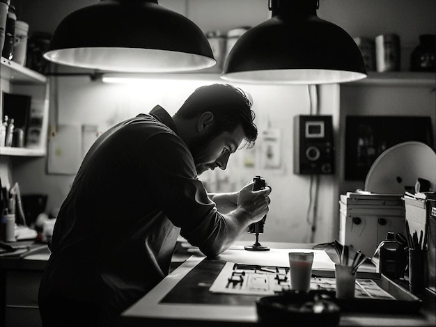
[[312,269],[334,270],[334,262],[325,250],[311,250],[298,248],[271,248],[269,251],[247,251],[243,246],[231,246],[217,257],[219,260],[235,262],[238,264],[258,264],[262,266],[289,266],[288,253],[290,252],[313,252]]

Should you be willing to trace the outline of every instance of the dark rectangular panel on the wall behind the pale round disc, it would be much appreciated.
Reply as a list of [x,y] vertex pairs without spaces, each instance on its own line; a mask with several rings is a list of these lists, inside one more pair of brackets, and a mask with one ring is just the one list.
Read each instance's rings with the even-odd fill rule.
[[348,115],[345,117],[345,180],[365,180],[384,150],[406,141],[422,142],[434,149],[431,118]]

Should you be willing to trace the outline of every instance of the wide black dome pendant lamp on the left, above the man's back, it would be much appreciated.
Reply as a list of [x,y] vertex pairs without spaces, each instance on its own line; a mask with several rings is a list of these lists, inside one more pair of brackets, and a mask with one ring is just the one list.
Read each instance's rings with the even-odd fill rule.
[[216,63],[201,29],[157,0],[101,0],[81,8],[59,24],[43,56],[115,72],[181,72]]

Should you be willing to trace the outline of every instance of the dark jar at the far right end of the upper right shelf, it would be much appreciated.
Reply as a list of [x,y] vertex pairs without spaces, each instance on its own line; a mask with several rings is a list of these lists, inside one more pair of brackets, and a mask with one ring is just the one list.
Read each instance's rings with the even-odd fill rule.
[[435,34],[419,35],[419,45],[410,56],[412,72],[435,72]]

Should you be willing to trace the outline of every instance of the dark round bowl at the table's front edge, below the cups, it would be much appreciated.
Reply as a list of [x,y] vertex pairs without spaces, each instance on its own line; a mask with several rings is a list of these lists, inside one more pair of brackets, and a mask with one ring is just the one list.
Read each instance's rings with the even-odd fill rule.
[[263,326],[338,326],[341,309],[328,292],[286,292],[256,301]]

